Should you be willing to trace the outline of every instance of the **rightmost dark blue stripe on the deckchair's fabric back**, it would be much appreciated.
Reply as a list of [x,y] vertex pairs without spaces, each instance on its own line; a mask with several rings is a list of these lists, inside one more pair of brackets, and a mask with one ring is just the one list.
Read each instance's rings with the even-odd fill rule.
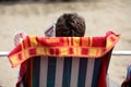
[[95,59],[92,87],[97,87],[97,85],[98,85],[98,78],[99,78],[98,76],[100,73],[102,60],[103,59]]

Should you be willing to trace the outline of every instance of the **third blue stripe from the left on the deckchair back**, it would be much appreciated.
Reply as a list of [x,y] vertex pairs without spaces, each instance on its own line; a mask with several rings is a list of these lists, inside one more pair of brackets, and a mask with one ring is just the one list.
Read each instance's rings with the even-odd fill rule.
[[72,58],[64,58],[62,87],[70,87]]

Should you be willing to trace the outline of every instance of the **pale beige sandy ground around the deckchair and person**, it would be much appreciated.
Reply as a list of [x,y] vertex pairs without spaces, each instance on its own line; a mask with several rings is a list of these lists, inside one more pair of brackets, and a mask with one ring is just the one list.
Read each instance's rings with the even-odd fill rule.
[[[44,36],[52,21],[67,12],[76,12],[85,18],[86,36],[102,36],[108,30],[121,34],[115,50],[131,50],[131,1],[105,0],[72,3],[1,3],[0,51],[14,48],[13,35],[25,30],[28,35]],[[126,78],[131,57],[112,55],[109,77],[119,86]],[[0,58],[0,87],[14,87],[19,66],[12,69],[7,57]]]

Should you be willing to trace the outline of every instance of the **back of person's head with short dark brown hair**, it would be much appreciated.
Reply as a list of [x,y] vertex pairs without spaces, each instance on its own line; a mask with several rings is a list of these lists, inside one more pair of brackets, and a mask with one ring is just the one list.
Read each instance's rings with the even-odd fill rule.
[[85,21],[76,13],[64,13],[56,23],[56,37],[83,37]]

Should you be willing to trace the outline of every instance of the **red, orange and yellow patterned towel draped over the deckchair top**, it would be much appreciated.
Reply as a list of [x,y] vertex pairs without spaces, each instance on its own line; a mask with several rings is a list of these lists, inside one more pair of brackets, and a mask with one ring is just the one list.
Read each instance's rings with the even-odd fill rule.
[[108,32],[104,37],[37,37],[27,36],[8,55],[12,66],[36,57],[99,58],[112,49],[120,35]]

